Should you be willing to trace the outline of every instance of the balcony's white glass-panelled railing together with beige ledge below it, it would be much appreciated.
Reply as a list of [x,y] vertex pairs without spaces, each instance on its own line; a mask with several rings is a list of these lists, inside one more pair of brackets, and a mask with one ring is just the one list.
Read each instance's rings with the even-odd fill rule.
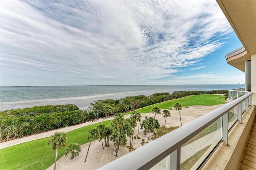
[[[142,146],[100,170],[237,169],[254,119],[252,92]],[[192,161],[191,161],[192,160]],[[189,166],[186,162],[192,162]]]

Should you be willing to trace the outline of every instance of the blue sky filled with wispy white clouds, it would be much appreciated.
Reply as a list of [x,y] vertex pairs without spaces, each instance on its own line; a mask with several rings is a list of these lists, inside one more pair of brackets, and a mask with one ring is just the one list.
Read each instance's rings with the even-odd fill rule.
[[244,83],[215,0],[1,0],[0,86]]

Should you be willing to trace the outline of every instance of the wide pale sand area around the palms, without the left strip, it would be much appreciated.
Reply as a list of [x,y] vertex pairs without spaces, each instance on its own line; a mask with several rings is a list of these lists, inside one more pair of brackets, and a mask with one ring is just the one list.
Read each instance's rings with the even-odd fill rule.
[[[189,123],[190,121],[193,121],[194,119],[201,117],[202,115],[205,115],[206,113],[209,113],[210,111],[213,111],[214,109],[217,109],[222,105],[214,105],[214,106],[189,106],[188,108],[182,107],[182,110],[180,111],[181,117],[182,117],[182,125],[185,125],[186,123]],[[180,115],[178,111],[175,110],[169,110],[171,113],[171,117],[168,117],[166,120],[166,127],[175,127],[180,126]],[[161,109],[162,112],[162,109]],[[145,117],[154,117],[153,113],[145,113],[141,114],[142,120],[145,119]],[[126,118],[130,117],[130,115],[125,115]],[[164,126],[165,118],[163,115],[156,115],[156,119],[158,119],[160,125]],[[103,119],[105,120],[105,119]],[[97,121],[96,123],[98,123]],[[142,121],[141,121],[142,122]],[[140,122],[140,123],[141,123]],[[138,124],[139,125],[139,124]],[[135,128],[134,135],[136,136],[138,134],[138,127]],[[150,142],[152,133],[148,133],[147,135],[144,135],[143,130],[140,130],[139,136],[141,139],[133,139],[133,146],[134,148],[139,148],[142,146],[141,142],[142,139],[145,139],[145,142]],[[29,137],[29,136],[28,136]],[[130,138],[128,138],[128,142],[126,146],[129,146]],[[102,149],[101,142],[94,141],[92,142],[88,154],[88,158],[86,162],[84,163],[84,159],[88,150],[88,143],[81,146],[82,152],[80,152],[79,156],[76,156],[74,159],[70,159],[70,155],[68,156],[62,156],[57,161],[57,167],[58,170],[94,170],[97,168],[100,168],[101,166],[119,158],[120,156],[123,156],[127,154],[128,148],[126,147],[120,147],[118,157],[115,156],[115,148],[112,141],[110,141],[109,147],[104,147]],[[53,170],[54,164],[48,168],[48,170]]]

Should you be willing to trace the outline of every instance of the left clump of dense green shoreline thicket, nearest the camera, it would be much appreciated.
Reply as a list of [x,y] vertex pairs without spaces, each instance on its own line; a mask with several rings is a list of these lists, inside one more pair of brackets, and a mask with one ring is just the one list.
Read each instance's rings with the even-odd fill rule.
[[91,117],[76,105],[48,105],[0,112],[0,142],[87,122]]

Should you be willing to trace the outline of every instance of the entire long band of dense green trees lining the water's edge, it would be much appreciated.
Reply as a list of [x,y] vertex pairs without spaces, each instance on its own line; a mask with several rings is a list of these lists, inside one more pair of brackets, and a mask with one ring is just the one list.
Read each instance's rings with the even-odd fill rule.
[[95,118],[126,113],[148,105],[188,95],[227,92],[228,90],[175,91],[171,95],[170,93],[154,93],[150,96],[139,95],[116,100],[98,100],[90,103],[91,106],[87,111],[79,110],[76,105],[72,104],[6,110],[0,112],[0,142],[92,121]]

